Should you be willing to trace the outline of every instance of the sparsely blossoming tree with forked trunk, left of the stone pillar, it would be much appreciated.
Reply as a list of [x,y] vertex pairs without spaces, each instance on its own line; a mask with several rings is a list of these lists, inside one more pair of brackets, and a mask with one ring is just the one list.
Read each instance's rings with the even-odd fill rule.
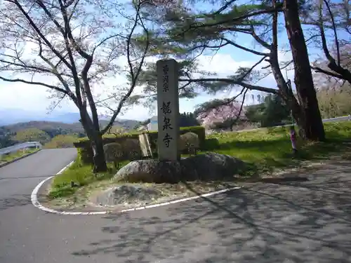
[[[148,31],[140,14],[143,0],[125,4],[88,0],[4,0],[0,14],[0,79],[50,89],[79,109],[92,142],[94,171],[107,170],[102,135],[113,125],[133,93],[148,48]],[[122,22],[121,22],[122,21]],[[143,32],[144,48],[134,34]],[[119,61],[126,60],[126,68]],[[105,128],[99,126],[94,89],[106,77],[123,74],[119,100]],[[89,114],[90,112],[90,114]]]

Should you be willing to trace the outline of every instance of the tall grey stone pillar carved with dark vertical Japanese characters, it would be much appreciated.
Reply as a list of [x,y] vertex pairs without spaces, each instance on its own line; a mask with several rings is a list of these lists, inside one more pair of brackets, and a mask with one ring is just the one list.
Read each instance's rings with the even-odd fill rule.
[[158,60],[156,67],[159,161],[178,161],[180,160],[178,62]]

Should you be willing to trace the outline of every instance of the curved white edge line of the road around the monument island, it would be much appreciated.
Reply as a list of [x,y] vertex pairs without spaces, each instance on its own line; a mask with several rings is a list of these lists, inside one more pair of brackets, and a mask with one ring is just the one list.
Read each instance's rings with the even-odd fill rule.
[[[69,163],[67,166],[62,168],[60,170],[60,172],[58,172],[56,175],[60,175],[60,173],[62,173],[67,168],[69,168],[69,166],[72,166],[73,163],[74,163],[74,161]],[[109,214],[109,213],[115,213],[114,211],[110,211],[110,210],[109,211],[93,211],[93,212],[65,212],[65,211],[60,211],[60,210],[54,210],[54,209],[51,209],[51,208],[46,208],[44,205],[41,205],[41,203],[38,201],[38,191],[43,186],[44,183],[46,183],[48,180],[51,180],[51,178],[53,178],[53,177],[55,177],[55,175],[51,176],[51,177],[48,177],[45,180],[41,181],[37,185],[37,187],[35,187],[33,189],[30,198],[31,198],[32,204],[36,208],[39,208],[40,210],[43,210],[43,211],[45,211],[47,213],[58,214],[58,215],[106,215],[106,214]],[[241,189],[241,188],[242,187],[231,187],[231,188],[222,189],[222,190],[219,190],[219,191],[213,191],[213,192],[207,193],[207,194],[201,194],[199,196],[192,196],[192,197],[182,198],[182,199],[168,201],[168,202],[164,202],[164,203],[157,203],[157,204],[154,204],[154,205],[145,205],[145,206],[140,206],[138,208],[129,208],[129,209],[124,209],[124,210],[119,210],[118,213],[126,213],[126,212],[131,212],[131,211],[136,211],[136,210],[144,210],[144,209],[147,209],[147,208],[157,208],[159,206],[171,205],[173,203],[182,203],[182,202],[185,202],[185,201],[190,201],[190,200],[203,198],[203,197],[208,197],[208,196],[214,196],[215,194],[222,194],[222,193],[225,193],[226,191],[232,191],[232,190]]]

